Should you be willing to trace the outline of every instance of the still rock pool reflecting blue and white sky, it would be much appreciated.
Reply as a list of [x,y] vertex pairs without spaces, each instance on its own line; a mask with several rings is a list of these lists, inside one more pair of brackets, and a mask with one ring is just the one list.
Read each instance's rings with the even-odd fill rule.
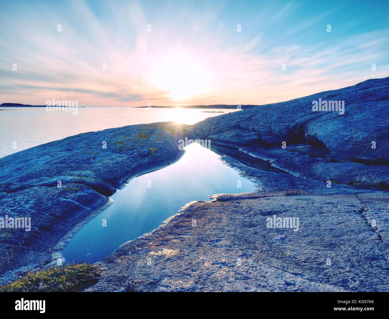
[[[210,200],[207,195],[254,190],[254,184],[223,164],[219,155],[197,143],[182,158],[163,169],[130,181],[113,196],[114,203],[90,220],[70,240],[66,261],[96,262],[128,240],[157,228],[187,203]],[[237,187],[237,181],[242,187]],[[147,187],[151,181],[151,187]],[[102,227],[102,220],[107,227]]]

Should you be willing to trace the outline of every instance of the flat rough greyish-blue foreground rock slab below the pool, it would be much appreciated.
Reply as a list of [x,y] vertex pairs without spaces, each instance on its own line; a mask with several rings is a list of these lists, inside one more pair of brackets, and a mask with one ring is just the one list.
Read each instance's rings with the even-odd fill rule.
[[[193,203],[124,244],[98,263],[105,272],[87,291],[389,290],[387,239],[356,195],[231,197]],[[365,208],[377,197],[387,207],[377,192],[363,194]],[[387,225],[387,213],[375,218]],[[274,214],[299,217],[299,231],[267,228]]]

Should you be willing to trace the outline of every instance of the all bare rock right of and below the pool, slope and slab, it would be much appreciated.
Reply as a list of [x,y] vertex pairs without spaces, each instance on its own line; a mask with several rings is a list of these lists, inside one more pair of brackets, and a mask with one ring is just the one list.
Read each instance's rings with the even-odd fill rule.
[[[196,123],[191,138],[210,139],[258,190],[187,205],[100,261],[87,290],[388,291],[389,196],[377,190],[389,176],[388,92],[389,78],[373,79]],[[313,112],[319,99],[344,100],[345,113]]]

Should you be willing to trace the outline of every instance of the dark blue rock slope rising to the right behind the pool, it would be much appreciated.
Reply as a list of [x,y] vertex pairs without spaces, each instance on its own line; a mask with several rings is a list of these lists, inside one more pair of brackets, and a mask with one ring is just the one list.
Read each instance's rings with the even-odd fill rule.
[[[238,148],[296,176],[352,184],[376,175],[389,189],[388,92],[389,78],[370,79],[207,118],[193,125],[193,131],[212,145]],[[319,99],[344,101],[344,114],[312,111],[312,102]]]

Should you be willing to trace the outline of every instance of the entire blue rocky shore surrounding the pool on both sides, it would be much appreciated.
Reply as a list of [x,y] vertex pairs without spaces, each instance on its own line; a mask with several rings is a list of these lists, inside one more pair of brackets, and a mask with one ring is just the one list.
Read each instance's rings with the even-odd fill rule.
[[[258,191],[185,206],[100,261],[87,291],[389,291],[388,92],[389,78],[371,79],[193,126],[133,125],[4,157],[2,214],[38,227],[2,234],[0,276],[47,263],[116,189],[179,159],[188,137],[210,139]],[[313,112],[319,99],[343,100],[345,113]],[[274,215],[298,217],[299,230],[267,227]]]

